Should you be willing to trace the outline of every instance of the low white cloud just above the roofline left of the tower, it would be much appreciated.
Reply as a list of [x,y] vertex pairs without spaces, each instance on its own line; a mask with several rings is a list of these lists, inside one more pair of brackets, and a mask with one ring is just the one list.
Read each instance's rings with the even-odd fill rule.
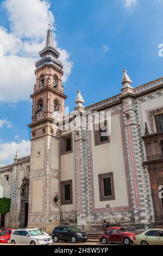
[[30,155],[30,141],[22,139],[19,143],[0,143],[0,166],[13,163],[16,151],[20,157]]

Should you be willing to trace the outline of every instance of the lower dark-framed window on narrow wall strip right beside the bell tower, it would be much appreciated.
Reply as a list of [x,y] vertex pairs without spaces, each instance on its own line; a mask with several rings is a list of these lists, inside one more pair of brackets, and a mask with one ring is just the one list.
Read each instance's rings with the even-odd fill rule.
[[72,180],[61,181],[61,204],[72,203]]

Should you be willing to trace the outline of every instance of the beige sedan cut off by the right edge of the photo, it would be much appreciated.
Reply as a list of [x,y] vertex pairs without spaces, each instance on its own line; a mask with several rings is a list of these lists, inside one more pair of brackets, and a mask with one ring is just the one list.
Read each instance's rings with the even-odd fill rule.
[[149,229],[136,235],[134,245],[163,245],[163,229]]

